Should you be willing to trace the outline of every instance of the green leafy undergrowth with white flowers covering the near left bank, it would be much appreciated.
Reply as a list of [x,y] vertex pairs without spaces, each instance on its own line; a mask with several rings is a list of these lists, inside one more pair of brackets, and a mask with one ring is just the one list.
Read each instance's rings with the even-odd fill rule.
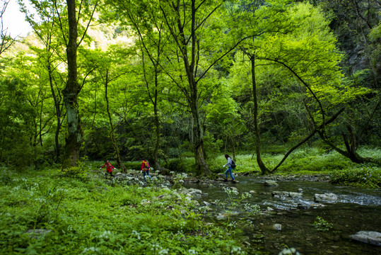
[[160,183],[0,173],[0,254],[245,254],[234,234],[205,224],[192,200]]

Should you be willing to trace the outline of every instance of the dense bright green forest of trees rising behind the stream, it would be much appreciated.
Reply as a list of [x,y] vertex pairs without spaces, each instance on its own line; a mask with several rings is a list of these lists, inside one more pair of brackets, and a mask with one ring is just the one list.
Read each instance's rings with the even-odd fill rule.
[[380,1],[18,2],[33,32],[1,30],[6,167],[192,157],[209,176],[240,153],[269,174],[300,147],[380,164],[358,153],[381,144]]

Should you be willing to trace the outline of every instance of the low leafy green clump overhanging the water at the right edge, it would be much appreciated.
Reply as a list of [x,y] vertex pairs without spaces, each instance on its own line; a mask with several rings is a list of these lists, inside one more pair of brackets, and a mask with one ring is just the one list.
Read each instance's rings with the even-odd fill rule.
[[334,171],[329,176],[334,184],[381,188],[381,168],[379,166],[363,164],[350,169]]

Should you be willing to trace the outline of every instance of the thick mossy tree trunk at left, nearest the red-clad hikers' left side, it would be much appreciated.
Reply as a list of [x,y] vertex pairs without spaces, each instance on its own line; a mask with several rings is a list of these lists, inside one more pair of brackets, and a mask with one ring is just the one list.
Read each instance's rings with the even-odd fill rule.
[[68,127],[68,137],[66,138],[66,148],[62,166],[76,166],[79,159],[79,151],[82,142],[81,120],[78,109],[78,93],[80,86],[77,81],[77,21],[76,21],[76,1],[67,0],[69,16],[69,41],[66,48],[68,62],[68,80],[63,91],[64,104],[66,107],[66,118]]

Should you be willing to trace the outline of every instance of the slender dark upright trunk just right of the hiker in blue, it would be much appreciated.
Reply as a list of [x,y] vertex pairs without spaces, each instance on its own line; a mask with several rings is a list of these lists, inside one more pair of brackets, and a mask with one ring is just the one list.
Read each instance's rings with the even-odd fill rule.
[[270,171],[262,162],[261,157],[261,137],[258,127],[258,99],[257,99],[257,81],[255,80],[255,57],[250,55],[250,61],[252,63],[252,96],[254,101],[254,140],[255,140],[255,154],[257,155],[257,164],[261,169],[262,174],[268,174]]

